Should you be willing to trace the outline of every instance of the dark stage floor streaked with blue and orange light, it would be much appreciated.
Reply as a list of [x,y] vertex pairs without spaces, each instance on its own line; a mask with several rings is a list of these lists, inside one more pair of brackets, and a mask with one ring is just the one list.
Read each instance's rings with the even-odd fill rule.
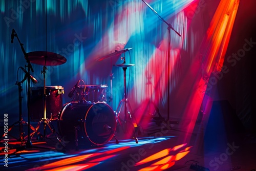
[[[31,123],[34,127],[36,124]],[[54,129],[55,126],[53,122]],[[199,135],[196,125],[189,142],[183,142],[187,133],[177,127],[152,121],[146,129],[136,129],[138,143],[132,138],[134,135],[127,139],[119,136],[119,143],[113,137],[100,146],[87,142],[87,145],[69,145],[57,139],[58,131],[51,134],[47,128],[47,138],[37,140],[34,135],[32,146],[26,148],[17,140],[19,125],[15,125],[9,132],[8,144],[5,137],[1,139],[1,170],[200,170],[200,166],[205,170],[256,169],[254,137],[236,134],[233,141],[220,137],[206,140],[205,135]],[[26,127],[24,130],[26,133]],[[42,133],[41,126],[39,130]],[[198,168],[191,168],[193,165]]]

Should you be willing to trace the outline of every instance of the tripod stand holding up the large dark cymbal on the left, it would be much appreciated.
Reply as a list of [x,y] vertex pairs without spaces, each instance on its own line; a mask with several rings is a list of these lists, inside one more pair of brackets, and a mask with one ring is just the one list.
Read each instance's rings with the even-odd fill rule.
[[[45,56],[45,58],[47,59],[47,56]],[[43,97],[43,101],[44,101],[44,118],[41,118],[41,120],[37,123],[36,127],[35,127],[35,131],[33,133],[33,135],[35,133],[37,133],[38,135],[40,135],[38,131],[39,127],[40,127],[40,124],[42,123],[43,126],[44,126],[44,135],[40,135],[38,137],[38,139],[42,139],[42,138],[48,138],[50,135],[54,134],[55,137],[57,138],[57,140],[59,142],[61,142],[61,139],[59,137],[56,136],[56,131],[54,130],[54,128],[50,125],[51,121],[49,119],[46,118],[46,70],[47,70],[47,67],[44,66],[42,67],[42,71],[41,73],[44,75],[44,97]],[[49,129],[51,130],[51,134],[50,135],[46,135],[46,125],[48,125]],[[32,135],[32,136],[33,136]],[[58,135],[59,136],[59,135]]]

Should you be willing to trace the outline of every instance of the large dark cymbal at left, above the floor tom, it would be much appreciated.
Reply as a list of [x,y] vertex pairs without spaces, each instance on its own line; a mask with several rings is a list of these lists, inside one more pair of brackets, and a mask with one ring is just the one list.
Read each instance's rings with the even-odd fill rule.
[[27,53],[29,61],[41,66],[58,66],[67,61],[67,59],[59,54],[46,51],[34,51]]

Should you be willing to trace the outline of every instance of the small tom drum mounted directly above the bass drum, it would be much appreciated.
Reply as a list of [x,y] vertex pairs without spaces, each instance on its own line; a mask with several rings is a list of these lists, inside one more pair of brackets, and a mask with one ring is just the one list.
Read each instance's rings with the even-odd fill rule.
[[73,101],[91,103],[106,102],[107,88],[108,86],[106,84],[79,85],[76,88]]

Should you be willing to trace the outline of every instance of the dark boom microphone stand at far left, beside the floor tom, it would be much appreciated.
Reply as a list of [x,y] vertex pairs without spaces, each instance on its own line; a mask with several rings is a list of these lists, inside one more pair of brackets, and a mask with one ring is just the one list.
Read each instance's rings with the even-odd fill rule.
[[[23,54],[25,56],[25,59],[26,59],[26,61],[28,63],[28,65],[25,66],[25,68],[26,67],[28,68],[28,74],[30,75],[30,70],[31,70],[31,72],[34,72],[34,70],[33,70],[32,66],[31,66],[30,61],[29,61],[28,54],[26,53],[26,51],[25,51],[25,49],[23,47],[23,44],[20,42],[16,31],[14,29],[13,29],[13,31],[14,31],[14,36],[17,37],[19,45],[20,45],[20,48],[22,48],[22,52],[23,52]],[[31,148],[32,147],[32,141],[31,141],[31,138],[30,138],[30,93],[29,93],[29,91],[30,91],[30,78],[29,77],[27,79],[27,82],[28,82],[28,92],[27,92],[27,96],[28,96],[28,106],[27,106],[27,108],[28,108],[28,140],[26,142],[26,148]]]

